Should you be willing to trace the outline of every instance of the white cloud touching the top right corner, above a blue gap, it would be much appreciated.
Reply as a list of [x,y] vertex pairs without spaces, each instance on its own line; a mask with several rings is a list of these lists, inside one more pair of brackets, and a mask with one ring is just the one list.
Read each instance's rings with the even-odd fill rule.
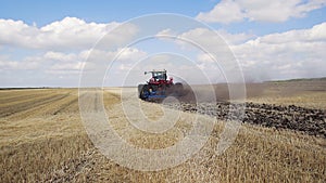
[[201,12],[197,19],[208,23],[249,21],[285,22],[303,17],[306,13],[326,5],[325,0],[222,0],[210,12]]

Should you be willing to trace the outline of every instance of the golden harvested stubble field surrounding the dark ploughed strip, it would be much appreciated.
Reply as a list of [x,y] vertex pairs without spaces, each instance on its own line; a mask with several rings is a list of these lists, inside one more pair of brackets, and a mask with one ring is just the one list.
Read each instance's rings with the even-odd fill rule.
[[[318,123],[325,126],[325,80],[254,87],[248,90],[248,103],[317,110],[322,113]],[[226,123],[223,118],[172,107],[181,116],[176,123],[163,133],[148,134],[128,122],[122,102],[140,104],[131,110],[142,112],[153,121],[162,118],[162,107],[168,106],[139,101],[133,88],[126,96],[121,91],[93,89],[89,107],[97,110],[97,101],[103,101],[113,129],[135,146],[158,149],[174,145],[185,138],[192,126],[187,120],[195,115],[214,118],[216,123],[208,142],[190,159],[162,171],[138,171],[115,164],[95,147],[80,118],[77,89],[0,90],[0,182],[326,182],[325,129],[319,126],[321,132],[310,134],[244,122],[235,142],[217,156],[214,149]],[[221,92],[227,101],[226,90]]]

